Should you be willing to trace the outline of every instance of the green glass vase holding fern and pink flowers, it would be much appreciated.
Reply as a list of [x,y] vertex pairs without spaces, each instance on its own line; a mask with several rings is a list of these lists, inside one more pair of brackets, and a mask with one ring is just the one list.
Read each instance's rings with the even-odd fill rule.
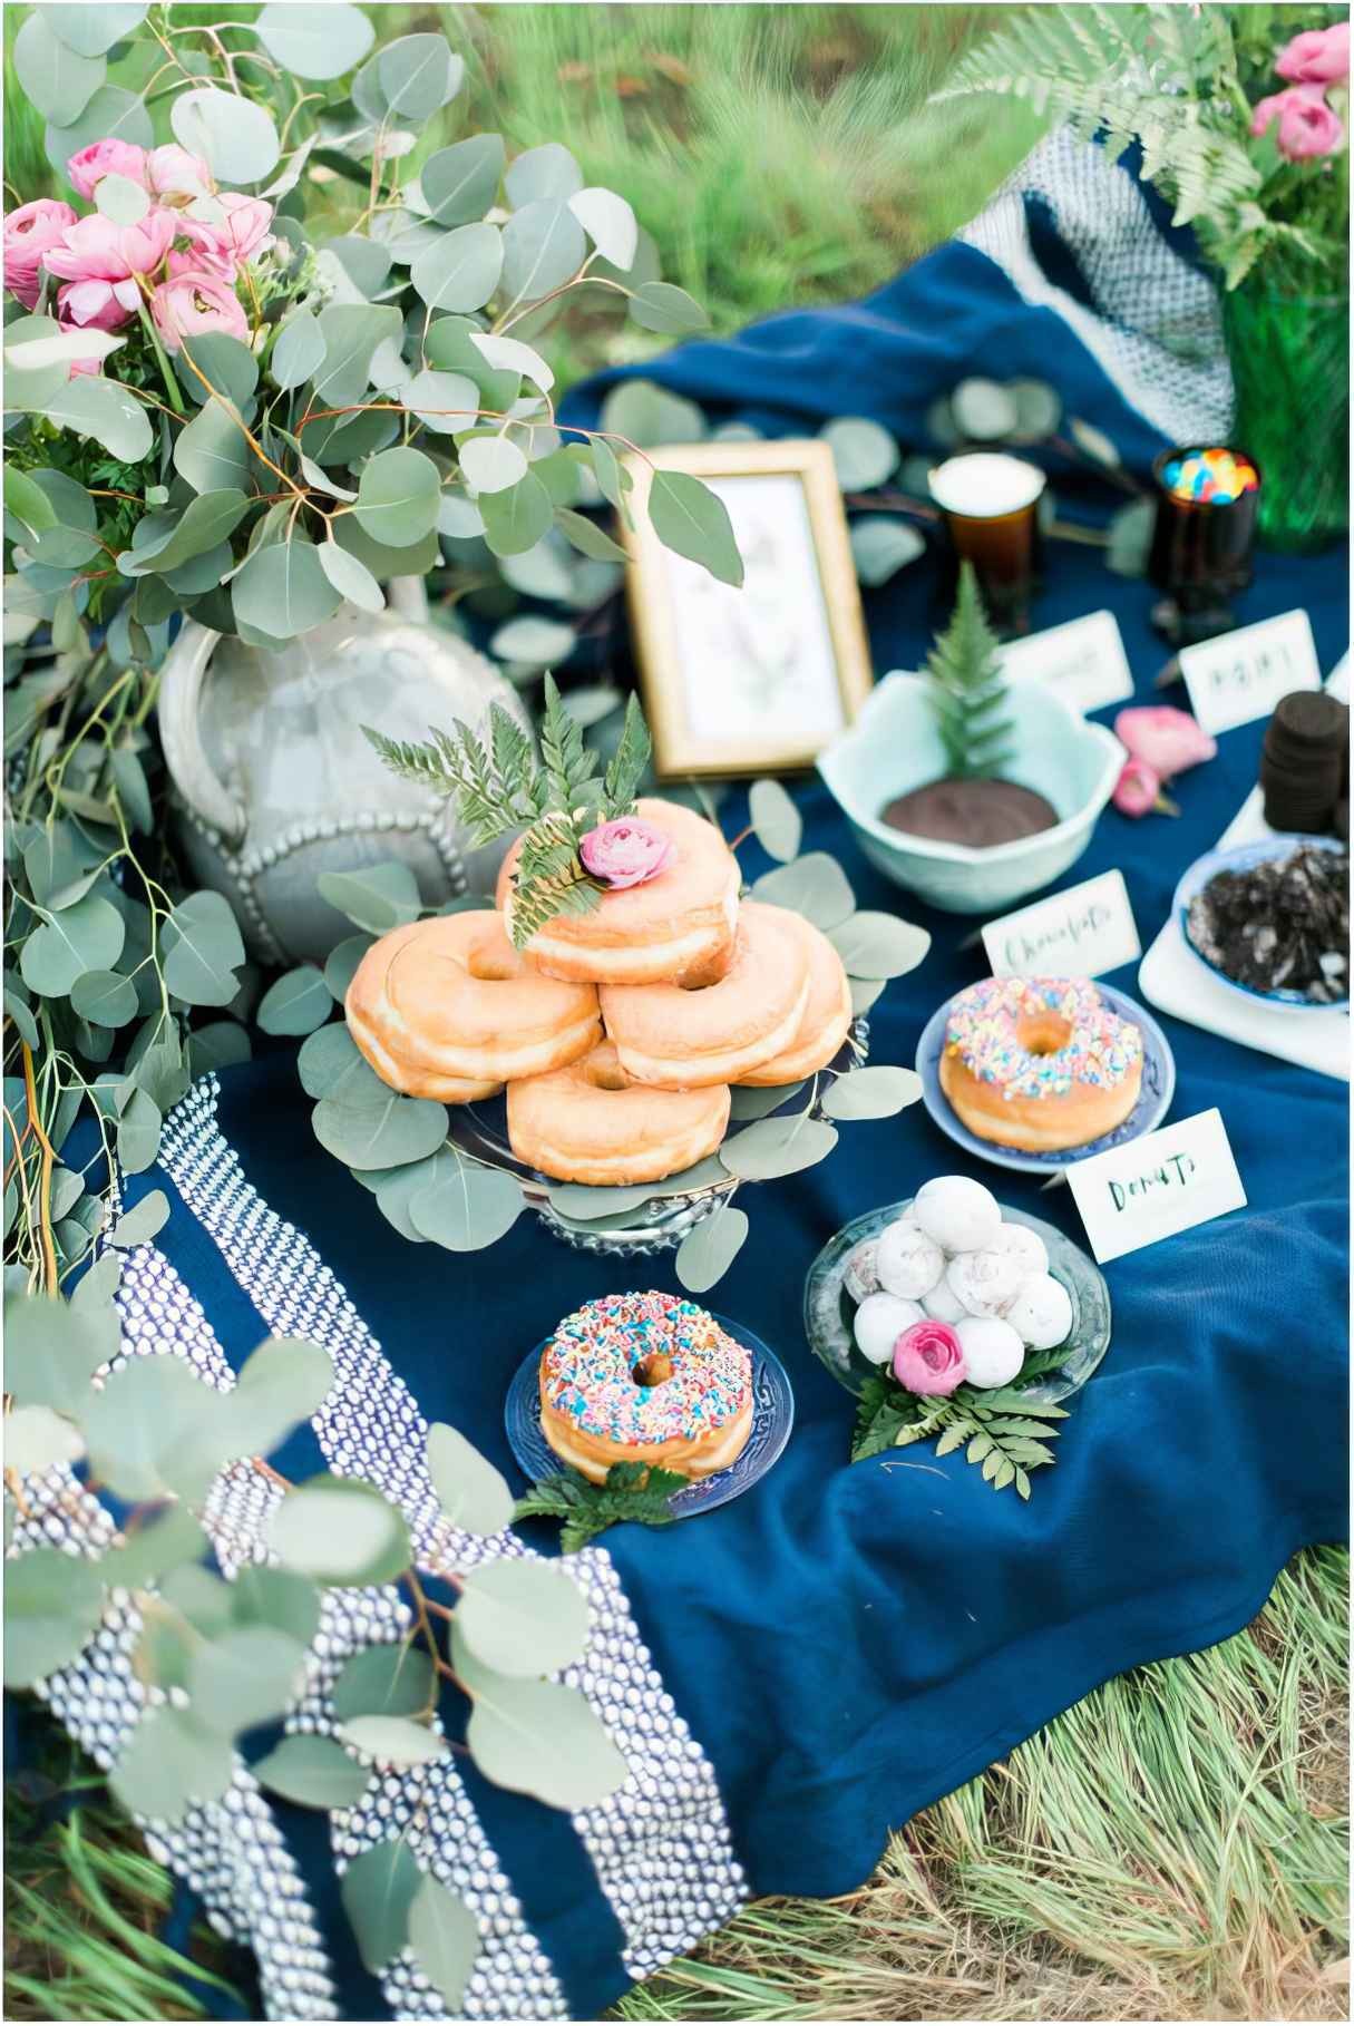
[[1301,553],[1350,525],[1350,298],[1245,284],[1222,296],[1232,442],[1261,468],[1259,537]]

